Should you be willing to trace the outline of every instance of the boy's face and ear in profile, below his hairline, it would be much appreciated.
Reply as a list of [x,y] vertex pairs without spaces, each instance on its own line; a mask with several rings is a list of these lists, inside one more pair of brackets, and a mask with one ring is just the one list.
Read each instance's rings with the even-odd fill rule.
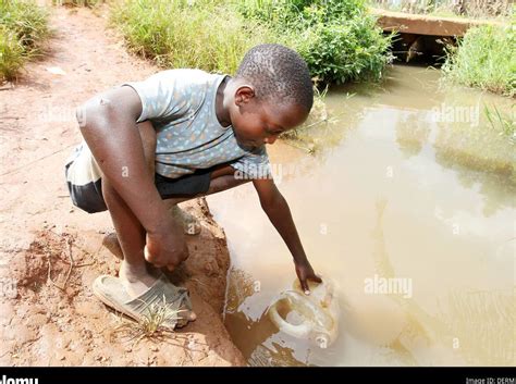
[[260,147],[273,144],[278,136],[292,129],[308,117],[304,108],[296,104],[277,104],[273,101],[258,101],[250,87],[239,87],[230,106],[230,117],[238,144],[245,147]]

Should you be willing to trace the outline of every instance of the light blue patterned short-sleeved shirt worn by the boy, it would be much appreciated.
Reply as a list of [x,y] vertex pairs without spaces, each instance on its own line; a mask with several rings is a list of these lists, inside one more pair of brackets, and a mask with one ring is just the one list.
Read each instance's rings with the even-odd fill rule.
[[270,176],[265,145],[241,147],[232,126],[216,115],[216,96],[226,75],[200,70],[168,70],[143,82],[125,83],[142,99],[142,115],[157,132],[156,172],[176,178],[230,162],[248,177]]

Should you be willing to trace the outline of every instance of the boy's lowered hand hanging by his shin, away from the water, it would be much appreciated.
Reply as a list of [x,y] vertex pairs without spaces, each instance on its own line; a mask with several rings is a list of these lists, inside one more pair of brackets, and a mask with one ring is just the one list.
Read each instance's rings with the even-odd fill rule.
[[188,258],[183,230],[173,221],[161,225],[160,231],[147,232],[144,249],[145,259],[157,268],[167,267],[173,271],[183,260]]

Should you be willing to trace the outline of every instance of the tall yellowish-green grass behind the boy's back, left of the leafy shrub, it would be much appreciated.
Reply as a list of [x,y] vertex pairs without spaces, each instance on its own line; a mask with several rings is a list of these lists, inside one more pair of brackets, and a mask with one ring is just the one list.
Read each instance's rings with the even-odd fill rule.
[[131,50],[164,67],[235,73],[249,48],[279,39],[222,1],[125,0],[111,20]]

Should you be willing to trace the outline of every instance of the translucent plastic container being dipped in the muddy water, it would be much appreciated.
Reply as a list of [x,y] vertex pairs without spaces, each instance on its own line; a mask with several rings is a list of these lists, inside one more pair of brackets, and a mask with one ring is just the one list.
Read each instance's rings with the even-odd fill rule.
[[339,301],[334,285],[324,280],[309,283],[310,295],[305,295],[299,282],[285,290],[268,309],[271,321],[291,336],[316,343],[327,348],[339,335]]

